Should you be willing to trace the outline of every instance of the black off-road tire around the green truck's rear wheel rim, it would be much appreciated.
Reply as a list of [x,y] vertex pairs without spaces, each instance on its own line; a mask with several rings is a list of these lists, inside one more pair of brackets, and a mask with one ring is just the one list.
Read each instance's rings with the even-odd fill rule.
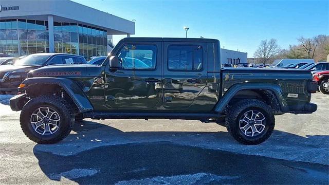
[[[248,110],[258,110],[265,117],[265,128],[257,136],[249,137],[240,130],[240,117]],[[264,102],[256,99],[245,99],[236,102],[228,111],[225,118],[226,128],[230,135],[238,142],[247,145],[256,145],[266,141],[272,134],[275,126],[275,117],[271,108]]]

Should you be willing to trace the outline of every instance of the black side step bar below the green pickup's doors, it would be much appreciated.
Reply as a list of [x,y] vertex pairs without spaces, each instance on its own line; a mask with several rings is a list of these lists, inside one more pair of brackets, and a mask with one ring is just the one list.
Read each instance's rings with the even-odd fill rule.
[[83,117],[92,119],[184,119],[184,120],[209,120],[220,118],[220,114],[212,113],[118,113],[118,112],[89,112]]

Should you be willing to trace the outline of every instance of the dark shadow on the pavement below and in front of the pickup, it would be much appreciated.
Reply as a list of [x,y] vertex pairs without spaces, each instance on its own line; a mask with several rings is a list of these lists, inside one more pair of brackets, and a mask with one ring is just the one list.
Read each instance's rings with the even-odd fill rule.
[[[165,142],[148,140],[151,136],[162,138],[170,135],[212,134],[229,144],[236,144],[226,132],[123,133],[111,126],[92,121],[76,124],[73,131],[77,134],[70,134],[60,143],[34,146],[33,153],[39,160],[40,168],[51,180],[67,178],[79,184],[328,183],[328,165],[179,145],[171,142],[171,139]],[[273,134],[274,138],[280,136],[280,142],[287,143],[303,143],[305,140],[308,140],[307,143],[317,143],[320,142],[318,139],[328,140],[328,136],[305,138],[281,131]],[[77,139],[77,135],[84,136],[85,141]],[[137,141],[134,143],[127,138]],[[96,141],[112,144],[87,146]],[[81,147],[86,149],[67,153],[79,151]]]

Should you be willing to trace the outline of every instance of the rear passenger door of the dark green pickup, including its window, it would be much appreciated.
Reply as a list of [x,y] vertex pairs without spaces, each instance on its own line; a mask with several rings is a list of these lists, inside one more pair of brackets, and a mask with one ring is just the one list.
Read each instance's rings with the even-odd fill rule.
[[164,42],[163,106],[188,109],[207,84],[207,44]]

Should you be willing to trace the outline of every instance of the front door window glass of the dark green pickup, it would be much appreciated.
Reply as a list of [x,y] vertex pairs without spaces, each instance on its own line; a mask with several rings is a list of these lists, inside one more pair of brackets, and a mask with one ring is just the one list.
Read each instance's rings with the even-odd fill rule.
[[117,54],[123,69],[155,69],[156,46],[124,45]]

